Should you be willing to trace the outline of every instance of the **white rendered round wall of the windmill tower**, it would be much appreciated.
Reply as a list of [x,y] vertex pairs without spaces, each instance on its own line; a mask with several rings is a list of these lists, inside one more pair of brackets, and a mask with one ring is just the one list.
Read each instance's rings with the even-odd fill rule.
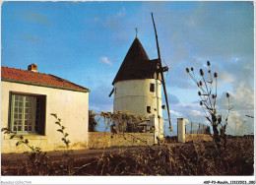
[[[155,84],[155,92],[150,91],[151,84]],[[127,110],[141,114],[147,118],[154,115],[160,121],[156,122],[156,134],[163,137],[162,111],[161,111],[161,83],[156,79],[127,80],[114,84],[114,111]],[[151,106],[151,113],[147,112]],[[160,122],[160,124],[159,124]]]

